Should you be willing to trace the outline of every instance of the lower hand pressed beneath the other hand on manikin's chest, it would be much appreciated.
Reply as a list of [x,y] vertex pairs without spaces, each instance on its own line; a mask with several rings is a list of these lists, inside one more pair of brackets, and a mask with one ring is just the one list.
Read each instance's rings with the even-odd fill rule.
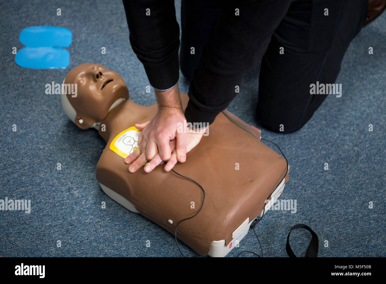
[[[141,129],[139,129],[139,130],[141,130]],[[195,146],[198,145],[203,134],[205,133],[205,130],[206,129],[201,129],[200,131],[193,131],[193,130],[188,128],[186,153],[188,153],[190,150],[192,150]],[[172,153],[171,158],[169,159],[168,163],[166,163],[166,165],[165,165],[164,169],[166,170],[166,172],[171,170],[174,167],[174,165],[176,165],[176,163],[177,163],[176,139],[171,140],[169,142],[169,146],[170,146],[171,150],[173,150],[173,153]],[[129,167],[129,171],[132,173],[134,173],[136,170],[141,168],[145,163],[147,163],[146,154],[141,153],[141,149],[139,147],[133,153],[130,154],[130,158],[132,160],[134,160],[132,165],[130,165],[130,167]],[[125,162],[126,162],[126,159],[125,159]],[[157,153],[157,155],[154,156],[154,158],[145,166],[144,171],[147,173],[151,172],[155,167],[157,167],[157,165],[160,165],[162,163],[164,163],[164,161],[159,156],[159,153]]]

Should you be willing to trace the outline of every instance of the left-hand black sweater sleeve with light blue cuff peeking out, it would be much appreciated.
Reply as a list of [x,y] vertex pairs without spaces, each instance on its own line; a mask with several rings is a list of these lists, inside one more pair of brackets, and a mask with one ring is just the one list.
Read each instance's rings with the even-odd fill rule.
[[[173,0],[123,0],[130,44],[152,87],[178,82],[179,26]],[[149,9],[149,10],[147,10]]]

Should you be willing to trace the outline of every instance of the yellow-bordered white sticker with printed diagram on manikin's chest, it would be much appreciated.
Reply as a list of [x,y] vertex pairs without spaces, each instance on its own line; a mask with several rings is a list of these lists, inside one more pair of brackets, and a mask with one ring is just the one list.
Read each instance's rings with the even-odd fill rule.
[[110,149],[122,158],[126,158],[137,149],[140,133],[141,130],[138,130],[134,126],[127,128],[114,138],[110,143]]

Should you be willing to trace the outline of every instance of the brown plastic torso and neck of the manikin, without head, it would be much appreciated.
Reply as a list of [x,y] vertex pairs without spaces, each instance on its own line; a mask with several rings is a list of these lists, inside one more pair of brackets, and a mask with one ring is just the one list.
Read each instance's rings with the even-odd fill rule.
[[[183,107],[188,96],[181,94]],[[203,192],[190,180],[163,165],[146,173],[143,168],[128,171],[124,158],[109,146],[119,133],[136,123],[152,119],[157,105],[143,107],[125,100],[101,121],[99,134],[107,145],[97,163],[97,180],[134,204],[139,213],[174,234],[176,224],[200,209]],[[264,201],[286,173],[286,162],[276,152],[251,135],[247,124],[236,125],[220,113],[209,126],[208,136],[186,156],[185,163],[173,168],[196,180],[205,190],[201,212],[178,226],[177,237],[201,255],[207,255],[212,241],[232,240],[232,232],[246,218],[253,220]],[[248,133],[249,132],[249,133]],[[252,133],[253,134],[253,133]],[[287,179],[288,177],[286,177]],[[170,224],[169,220],[173,223]]]

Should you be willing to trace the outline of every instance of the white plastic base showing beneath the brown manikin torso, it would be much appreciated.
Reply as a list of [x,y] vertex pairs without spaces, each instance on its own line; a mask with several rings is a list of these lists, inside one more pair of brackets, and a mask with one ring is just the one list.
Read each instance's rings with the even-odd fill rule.
[[[269,210],[269,208],[271,208],[272,204],[276,201],[276,199],[279,198],[279,196],[284,190],[284,186],[285,184],[283,179],[281,183],[278,185],[278,187],[276,187],[276,189],[272,193],[271,201],[267,202],[265,206],[264,214]],[[100,187],[105,192],[105,194],[107,194],[108,197],[118,202],[126,209],[129,209],[131,212],[139,213],[137,209],[135,209],[135,206],[130,201],[128,201],[125,197],[121,196],[120,194],[118,194],[117,192],[115,192],[114,190],[108,188],[103,184],[100,184]],[[263,211],[261,211],[261,213],[257,217],[262,217]],[[244,238],[244,236],[247,235],[249,231],[249,227],[251,226],[251,223],[253,221],[254,220],[249,220],[249,218],[245,219],[245,221],[242,224],[240,224],[239,228],[234,230],[234,232],[232,233],[232,241],[227,246],[225,246],[225,240],[212,241],[208,255],[210,257],[225,257],[225,255],[227,255],[231,250],[233,250],[234,247],[238,247],[242,238]]]

